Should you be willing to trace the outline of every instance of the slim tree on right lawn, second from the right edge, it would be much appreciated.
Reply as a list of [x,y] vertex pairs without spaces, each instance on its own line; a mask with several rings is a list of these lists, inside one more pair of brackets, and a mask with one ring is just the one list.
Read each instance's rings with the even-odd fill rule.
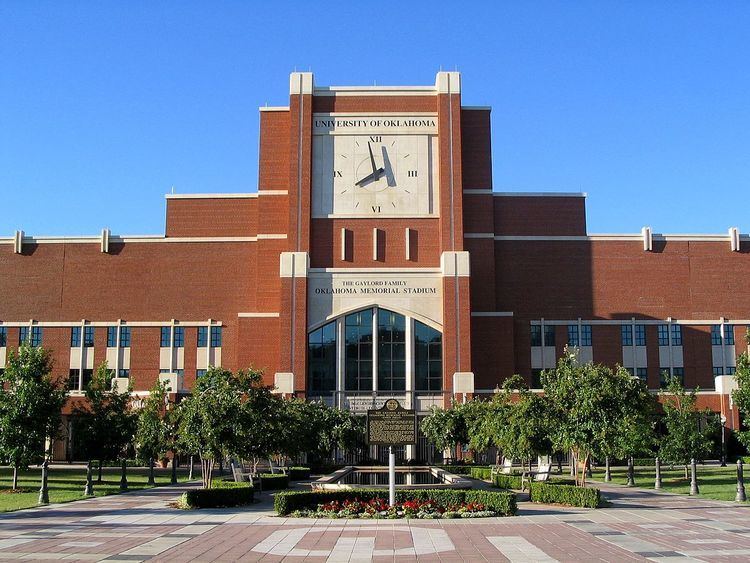
[[686,391],[679,379],[669,379],[661,393],[666,435],[659,444],[659,457],[667,463],[685,465],[687,478],[691,459],[705,459],[713,450],[713,436],[719,429],[716,413],[696,408],[697,390]]

